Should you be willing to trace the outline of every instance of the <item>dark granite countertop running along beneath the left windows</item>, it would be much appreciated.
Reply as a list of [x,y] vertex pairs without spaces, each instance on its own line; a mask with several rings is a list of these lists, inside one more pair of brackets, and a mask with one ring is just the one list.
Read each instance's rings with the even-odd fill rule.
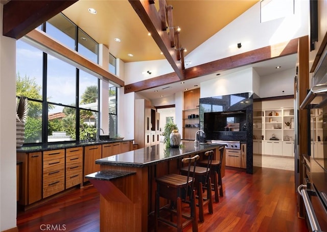
[[91,145],[99,145],[106,143],[114,143],[114,142],[125,142],[125,141],[133,141],[133,139],[126,140],[100,140],[100,141],[91,141],[91,142],[63,142],[63,143],[47,143],[40,145],[27,145],[22,146],[16,149],[16,152],[41,152],[41,151],[51,151],[57,149],[66,149],[72,147],[83,147],[83,146],[91,146]]

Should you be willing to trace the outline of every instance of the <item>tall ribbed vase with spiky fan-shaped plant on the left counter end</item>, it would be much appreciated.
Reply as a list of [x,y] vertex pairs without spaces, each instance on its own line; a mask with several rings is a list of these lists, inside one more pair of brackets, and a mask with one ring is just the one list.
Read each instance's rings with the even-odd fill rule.
[[29,112],[27,97],[16,98],[16,147],[21,147],[25,141],[25,122]]

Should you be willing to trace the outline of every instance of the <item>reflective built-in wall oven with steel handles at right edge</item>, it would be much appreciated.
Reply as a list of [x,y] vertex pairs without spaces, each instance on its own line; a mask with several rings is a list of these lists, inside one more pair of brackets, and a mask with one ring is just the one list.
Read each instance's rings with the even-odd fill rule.
[[304,184],[299,185],[311,231],[327,231],[327,83],[309,91],[300,109],[308,110],[308,154]]

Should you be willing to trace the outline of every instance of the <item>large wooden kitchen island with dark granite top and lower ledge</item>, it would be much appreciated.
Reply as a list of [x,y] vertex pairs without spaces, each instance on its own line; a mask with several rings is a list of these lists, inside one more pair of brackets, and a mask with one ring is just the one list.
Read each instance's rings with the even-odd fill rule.
[[[181,159],[225,144],[181,142],[180,148],[156,144],[96,160],[101,171],[86,176],[100,192],[100,231],[148,231],[153,218],[155,178],[178,173]],[[224,174],[224,162],[222,175]]]

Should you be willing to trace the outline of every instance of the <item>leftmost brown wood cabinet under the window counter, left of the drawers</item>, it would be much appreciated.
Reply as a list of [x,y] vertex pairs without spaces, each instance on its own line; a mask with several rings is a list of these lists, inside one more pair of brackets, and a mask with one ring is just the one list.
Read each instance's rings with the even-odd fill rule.
[[29,205],[42,199],[42,152],[17,153],[21,161],[20,205]]

